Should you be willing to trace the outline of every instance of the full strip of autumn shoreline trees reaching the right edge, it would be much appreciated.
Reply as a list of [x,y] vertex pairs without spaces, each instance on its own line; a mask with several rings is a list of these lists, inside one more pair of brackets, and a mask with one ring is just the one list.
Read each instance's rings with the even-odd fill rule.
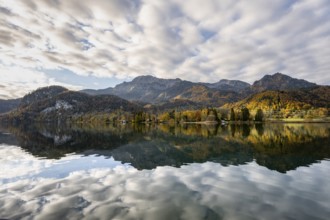
[[[110,113],[87,113],[72,116],[78,123],[225,123],[225,122],[263,122],[268,120],[329,120],[327,108],[295,110],[288,114],[287,109],[250,110],[243,108],[203,108],[199,110],[169,110],[163,112],[135,111],[121,109]],[[293,110],[291,110],[293,111]],[[292,113],[292,112],[291,112]]]

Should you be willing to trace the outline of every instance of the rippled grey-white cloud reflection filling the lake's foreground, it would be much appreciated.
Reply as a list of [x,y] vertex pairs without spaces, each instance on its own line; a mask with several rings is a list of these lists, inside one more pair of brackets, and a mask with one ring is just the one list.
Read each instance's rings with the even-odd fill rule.
[[322,161],[285,175],[255,162],[143,171],[120,165],[77,167],[62,179],[2,184],[0,213],[5,218],[36,219],[326,219],[329,167],[330,161]]

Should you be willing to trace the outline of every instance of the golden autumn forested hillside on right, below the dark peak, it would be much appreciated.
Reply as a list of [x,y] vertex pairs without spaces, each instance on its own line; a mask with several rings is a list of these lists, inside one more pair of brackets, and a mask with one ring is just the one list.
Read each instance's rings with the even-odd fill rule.
[[318,118],[328,117],[330,109],[330,86],[315,86],[295,90],[265,90],[227,103],[224,109],[247,108],[251,112],[264,111],[268,118]]

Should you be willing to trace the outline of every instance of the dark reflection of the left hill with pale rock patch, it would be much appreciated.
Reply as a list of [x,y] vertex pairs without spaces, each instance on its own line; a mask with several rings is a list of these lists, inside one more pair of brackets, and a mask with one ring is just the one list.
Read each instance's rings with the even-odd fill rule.
[[37,157],[58,159],[69,153],[88,150],[112,150],[122,146],[134,135],[127,133],[93,132],[57,127],[10,127],[18,144]]

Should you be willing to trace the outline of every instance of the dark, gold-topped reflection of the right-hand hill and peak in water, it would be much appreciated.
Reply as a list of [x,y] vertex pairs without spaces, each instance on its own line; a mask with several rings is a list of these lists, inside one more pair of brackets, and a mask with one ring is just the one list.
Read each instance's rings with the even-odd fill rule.
[[253,133],[248,141],[255,148],[258,164],[285,172],[295,169],[297,164],[307,165],[330,158],[329,137],[329,126],[296,124],[266,128],[262,136]]

